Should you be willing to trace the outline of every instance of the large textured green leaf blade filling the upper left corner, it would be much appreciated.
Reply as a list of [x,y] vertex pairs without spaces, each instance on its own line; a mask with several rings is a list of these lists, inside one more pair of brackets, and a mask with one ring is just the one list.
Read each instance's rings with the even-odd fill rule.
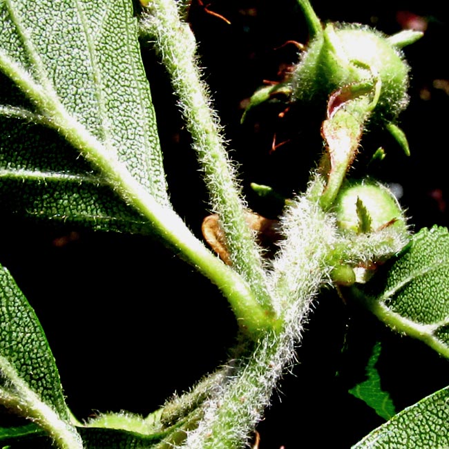
[[113,161],[169,204],[132,3],[39,1],[30,8],[8,0],[0,20],[0,70],[13,82],[0,80],[1,198],[23,182],[25,198],[13,211],[94,229],[142,229],[139,214],[108,192],[114,181],[101,170]]

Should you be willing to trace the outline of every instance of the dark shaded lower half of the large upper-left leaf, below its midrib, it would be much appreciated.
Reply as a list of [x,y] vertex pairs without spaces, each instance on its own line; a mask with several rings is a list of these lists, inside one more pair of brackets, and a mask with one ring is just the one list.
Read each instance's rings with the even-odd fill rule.
[[55,131],[0,116],[0,136],[4,213],[91,229],[149,232],[146,220]]

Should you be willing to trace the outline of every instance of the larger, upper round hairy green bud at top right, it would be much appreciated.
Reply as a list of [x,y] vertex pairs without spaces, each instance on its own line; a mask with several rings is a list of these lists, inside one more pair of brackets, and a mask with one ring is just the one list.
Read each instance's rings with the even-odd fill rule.
[[309,44],[292,75],[293,97],[322,104],[345,89],[372,93],[372,118],[395,120],[408,104],[408,64],[399,44],[359,24],[331,23]]

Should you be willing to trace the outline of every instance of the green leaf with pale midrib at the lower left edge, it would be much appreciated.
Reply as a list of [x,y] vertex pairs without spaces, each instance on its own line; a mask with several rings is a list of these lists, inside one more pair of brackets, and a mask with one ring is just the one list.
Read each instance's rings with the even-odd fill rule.
[[32,419],[61,448],[82,448],[35,312],[0,266],[0,404]]

